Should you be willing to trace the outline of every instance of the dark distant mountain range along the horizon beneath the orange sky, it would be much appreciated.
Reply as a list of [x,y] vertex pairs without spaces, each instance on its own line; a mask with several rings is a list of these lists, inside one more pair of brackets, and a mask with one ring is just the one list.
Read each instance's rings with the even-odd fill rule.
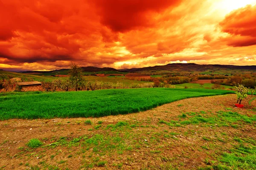
[[[234,66],[234,65],[218,65],[218,64],[195,64],[195,63],[172,63],[164,66],[152,66],[152,67],[143,67],[143,68],[132,68],[132,69],[114,69],[111,67],[94,67],[87,66],[81,67],[84,72],[157,72],[157,71],[169,71],[169,72],[205,72],[205,71],[216,71],[220,69],[236,69],[236,70],[251,70],[256,71],[256,66]],[[57,73],[65,72],[67,73],[69,69],[59,69],[52,71],[24,71],[22,73]]]

